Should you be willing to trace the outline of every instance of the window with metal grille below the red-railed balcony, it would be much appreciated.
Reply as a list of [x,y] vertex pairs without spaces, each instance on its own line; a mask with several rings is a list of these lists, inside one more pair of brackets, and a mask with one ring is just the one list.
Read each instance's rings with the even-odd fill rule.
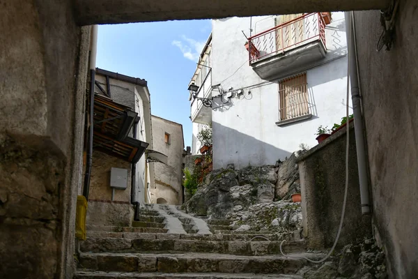
[[309,114],[307,73],[279,82],[279,107],[280,121]]

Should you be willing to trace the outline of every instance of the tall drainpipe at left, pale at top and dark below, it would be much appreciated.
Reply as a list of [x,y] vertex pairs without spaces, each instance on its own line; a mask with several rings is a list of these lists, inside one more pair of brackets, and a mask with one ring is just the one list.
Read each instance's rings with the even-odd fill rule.
[[88,151],[87,151],[87,167],[84,175],[83,195],[88,200],[88,192],[90,190],[91,165],[93,164],[93,128],[94,128],[94,82],[95,82],[95,61],[98,50],[98,25],[91,27],[91,51],[90,51],[90,108],[89,116],[89,132],[88,132]]

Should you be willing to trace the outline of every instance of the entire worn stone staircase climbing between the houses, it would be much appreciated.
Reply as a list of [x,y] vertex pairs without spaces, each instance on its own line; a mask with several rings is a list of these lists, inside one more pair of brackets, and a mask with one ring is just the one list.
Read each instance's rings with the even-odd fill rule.
[[[280,255],[281,241],[292,234],[238,232],[228,220],[208,219],[206,225],[173,206],[147,207],[132,227],[89,227],[75,278],[302,278],[296,273],[309,264]],[[169,232],[171,217],[183,233]],[[283,248],[321,256],[307,253],[303,240],[287,241]]]

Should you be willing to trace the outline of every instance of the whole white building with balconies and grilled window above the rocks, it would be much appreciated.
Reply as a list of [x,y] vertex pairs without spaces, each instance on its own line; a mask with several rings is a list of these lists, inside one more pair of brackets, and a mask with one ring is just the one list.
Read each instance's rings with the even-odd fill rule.
[[316,145],[318,126],[341,121],[345,21],[342,12],[326,19],[310,13],[212,20],[199,61],[211,68],[198,65],[190,82],[200,86],[196,97],[211,101],[205,107],[205,100],[191,98],[193,154],[201,123],[212,123],[217,169],[272,165],[302,143]]

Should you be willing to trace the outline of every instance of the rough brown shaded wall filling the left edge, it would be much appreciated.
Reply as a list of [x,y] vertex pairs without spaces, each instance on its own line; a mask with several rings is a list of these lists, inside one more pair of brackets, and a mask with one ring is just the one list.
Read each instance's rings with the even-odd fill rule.
[[73,16],[72,1],[0,9],[1,278],[72,278],[89,43]]

